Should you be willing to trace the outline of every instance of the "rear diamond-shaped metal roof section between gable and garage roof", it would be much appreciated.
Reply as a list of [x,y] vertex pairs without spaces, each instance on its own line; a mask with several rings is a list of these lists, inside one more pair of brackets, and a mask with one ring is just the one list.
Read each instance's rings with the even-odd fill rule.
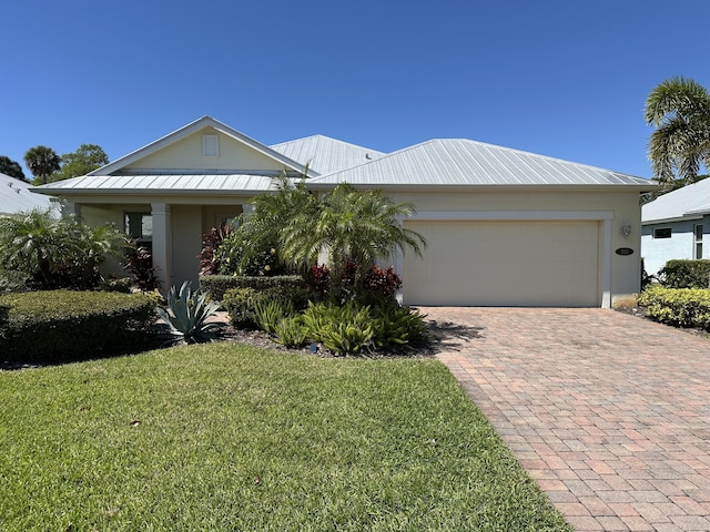
[[385,155],[375,150],[323,135],[282,142],[270,147],[293,161],[308,164],[308,168],[318,174],[329,174],[349,168]]

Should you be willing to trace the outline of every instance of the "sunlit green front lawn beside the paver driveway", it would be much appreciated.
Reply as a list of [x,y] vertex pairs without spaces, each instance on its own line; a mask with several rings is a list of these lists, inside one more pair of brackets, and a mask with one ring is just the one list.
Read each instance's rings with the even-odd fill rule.
[[0,405],[4,531],[571,530],[434,360],[185,346]]

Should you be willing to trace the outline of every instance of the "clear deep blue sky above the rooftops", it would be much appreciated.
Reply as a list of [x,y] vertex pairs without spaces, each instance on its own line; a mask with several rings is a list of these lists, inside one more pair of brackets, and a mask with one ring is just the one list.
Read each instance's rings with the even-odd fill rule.
[[0,18],[0,155],[21,164],[38,144],[115,160],[209,114],[265,144],[466,137],[650,177],[648,93],[710,89],[708,0],[24,0]]

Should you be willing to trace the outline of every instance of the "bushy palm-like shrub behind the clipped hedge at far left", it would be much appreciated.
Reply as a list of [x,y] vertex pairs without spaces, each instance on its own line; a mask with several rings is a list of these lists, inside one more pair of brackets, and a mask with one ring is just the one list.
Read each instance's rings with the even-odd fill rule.
[[99,266],[119,256],[124,236],[112,226],[89,227],[74,217],[31,211],[0,218],[0,268],[27,275],[41,289],[94,288]]

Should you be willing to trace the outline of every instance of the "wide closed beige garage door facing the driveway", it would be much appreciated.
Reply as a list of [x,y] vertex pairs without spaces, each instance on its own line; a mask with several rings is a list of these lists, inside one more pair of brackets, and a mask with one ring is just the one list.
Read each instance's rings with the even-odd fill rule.
[[428,244],[424,258],[405,255],[409,305],[600,305],[598,222],[408,221],[405,226]]

